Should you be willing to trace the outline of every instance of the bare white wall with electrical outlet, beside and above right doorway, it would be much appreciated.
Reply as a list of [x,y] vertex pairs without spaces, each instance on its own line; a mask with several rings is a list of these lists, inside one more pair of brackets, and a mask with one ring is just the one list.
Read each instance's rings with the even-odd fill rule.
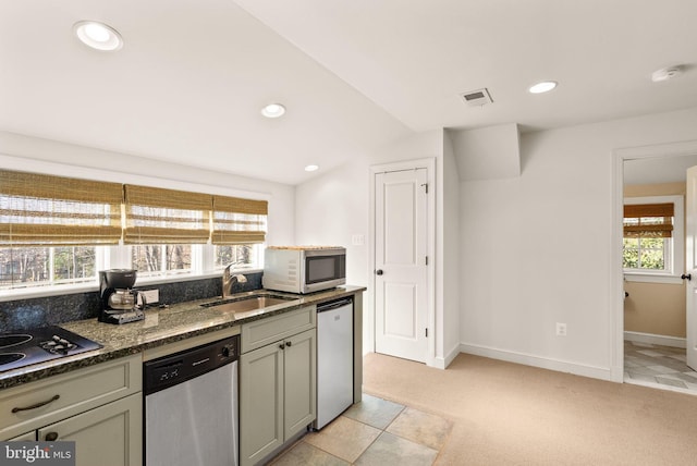
[[523,134],[519,177],[462,182],[462,351],[611,379],[613,150],[696,138],[697,109]]

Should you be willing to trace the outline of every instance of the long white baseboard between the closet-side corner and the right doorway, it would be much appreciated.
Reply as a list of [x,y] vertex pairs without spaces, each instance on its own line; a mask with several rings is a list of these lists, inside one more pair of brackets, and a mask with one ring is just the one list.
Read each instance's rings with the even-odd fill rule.
[[501,359],[509,363],[523,364],[525,366],[557,370],[559,372],[568,372],[576,376],[591,377],[594,379],[615,381],[613,380],[613,371],[610,367],[597,367],[577,363],[568,363],[565,360],[551,359],[548,357],[540,357],[531,354],[511,352],[508,350],[499,350],[490,346],[481,346],[468,343],[461,343],[460,352],[473,354],[475,356],[489,357],[492,359]]

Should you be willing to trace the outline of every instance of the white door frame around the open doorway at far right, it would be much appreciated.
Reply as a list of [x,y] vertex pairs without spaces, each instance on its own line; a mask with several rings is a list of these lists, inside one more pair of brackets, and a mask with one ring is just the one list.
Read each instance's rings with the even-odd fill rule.
[[[640,147],[624,147],[613,150],[613,203],[612,203],[612,249],[611,249],[611,380],[624,382],[624,270],[622,268],[622,222],[624,218],[624,162],[637,159],[662,159],[697,155],[697,140],[657,144]],[[686,310],[687,311],[687,310]]]

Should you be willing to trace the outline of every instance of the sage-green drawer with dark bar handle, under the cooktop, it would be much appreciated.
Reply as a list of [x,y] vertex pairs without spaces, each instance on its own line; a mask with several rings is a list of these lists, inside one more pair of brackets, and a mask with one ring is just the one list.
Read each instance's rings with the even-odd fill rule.
[[[139,392],[142,367],[142,355],[137,354],[0,391],[0,439]],[[33,407],[36,405],[41,406]]]

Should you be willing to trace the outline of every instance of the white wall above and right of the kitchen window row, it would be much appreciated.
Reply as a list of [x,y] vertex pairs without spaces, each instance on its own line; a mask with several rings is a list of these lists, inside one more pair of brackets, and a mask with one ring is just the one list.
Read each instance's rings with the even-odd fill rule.
[[[192,155],[196,157],[206,155]],[[59,176],[267,199],[269,244],[293,244],[295,240],[294,186],[224,173],[224,170],[234,171],[234,167],[200,170],[8,132],[0,132],[0,165]]]

